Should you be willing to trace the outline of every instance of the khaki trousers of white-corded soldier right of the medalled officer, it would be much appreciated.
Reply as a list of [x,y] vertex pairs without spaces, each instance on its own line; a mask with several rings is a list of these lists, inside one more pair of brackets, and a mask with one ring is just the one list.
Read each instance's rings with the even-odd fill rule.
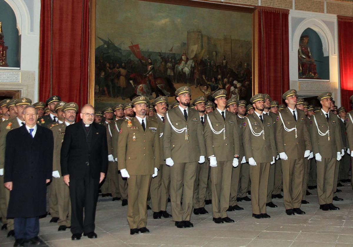
[[[170,167],[170,201],[173,221],[190,221],[197,162]],[[183,205],[181,204],[183,199]]]

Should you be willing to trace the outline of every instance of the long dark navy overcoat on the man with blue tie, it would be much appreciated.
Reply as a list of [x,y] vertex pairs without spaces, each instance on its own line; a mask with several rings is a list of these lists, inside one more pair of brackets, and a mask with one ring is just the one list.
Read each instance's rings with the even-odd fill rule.
[[52,178],[53,132],[37,125],[34,138],[25,126],[6,137],[4,182],[13,182],[7,217],[46,213],[46,179]]

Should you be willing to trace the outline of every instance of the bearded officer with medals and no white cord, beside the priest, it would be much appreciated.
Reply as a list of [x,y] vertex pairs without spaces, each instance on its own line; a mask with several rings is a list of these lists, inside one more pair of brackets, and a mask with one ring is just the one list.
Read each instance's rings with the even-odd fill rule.
[[130,234],[147,233],[147,196],[152,177],[160,167],[160,130],[155,120],[146,118],[147,98],[133,99],[136,116],[124,121],[118,139],[118,167],[128,179],[127,221]]

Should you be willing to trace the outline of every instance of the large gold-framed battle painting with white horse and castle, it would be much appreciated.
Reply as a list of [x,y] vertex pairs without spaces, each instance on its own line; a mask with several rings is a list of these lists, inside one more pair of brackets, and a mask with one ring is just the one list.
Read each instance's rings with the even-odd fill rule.
[[91,0],[90,92],[96,108],[145,95],[175,100],[226,89],[252,96],[254,7],[190,0]]

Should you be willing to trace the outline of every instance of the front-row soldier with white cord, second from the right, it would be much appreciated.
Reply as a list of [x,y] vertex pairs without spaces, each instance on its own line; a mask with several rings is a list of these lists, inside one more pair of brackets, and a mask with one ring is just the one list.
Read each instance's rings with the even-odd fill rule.
[[[283,173],[283,202],[287,215],[304,214],[300,209],[304,179],[304,159],[312,150],[305,113],[296,107],[297,90],[291,89],[282,95],[287,103],[276,118],[276,144],[281,158]],[[301,104],[304,103],[300,100]]]

